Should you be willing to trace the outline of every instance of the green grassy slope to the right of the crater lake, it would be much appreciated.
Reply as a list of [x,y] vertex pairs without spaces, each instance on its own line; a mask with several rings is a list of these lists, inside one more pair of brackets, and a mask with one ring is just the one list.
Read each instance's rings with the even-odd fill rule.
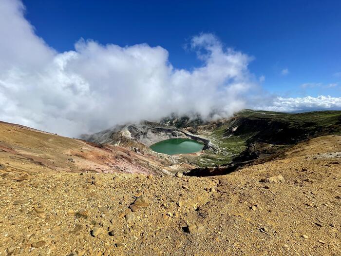
[[[270,126],[269,130],[261,126],[241,127],[236,131],[236,135],[231,134],[231,121],[240,118],[251,123],[261,121]],[[316,111],[299,114],[244,110],[236,113],[235,118],[230,118],[217,123],[216,126],[205,130],[205,126],[198,130],[199,134],[208,137],[213,144],[219,147],[218,152],[207,151],[198,159],[200,166],[222,165],[229,162],[233,157],[246,149],[248,142],[254,142],[256,139],[266,138],[269,134],[276,137],[279,133],[271,130],[273,123],[282,123],[287,127],[288,133],[295,131],[299,134],[298,139],[313,138],[321,135],[340,135],[341,134],[341,111]],[[242,126],[242,125],[241,125]],[[275,129],[275,128],[273,128]],[[291,134],[283,136],[290,137]],[[279,135],[281,137],[281,135]],[[269,142],[269,141],[262,141]],[[283,143],[286,144],[286,143]]]

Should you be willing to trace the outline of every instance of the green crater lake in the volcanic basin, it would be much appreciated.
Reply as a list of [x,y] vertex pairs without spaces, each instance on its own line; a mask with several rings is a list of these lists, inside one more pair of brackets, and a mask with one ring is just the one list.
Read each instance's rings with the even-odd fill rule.
[[150,148],[157,153],[176,155],[199,152],[204,144],[189,138],[170,138],[152,144]]

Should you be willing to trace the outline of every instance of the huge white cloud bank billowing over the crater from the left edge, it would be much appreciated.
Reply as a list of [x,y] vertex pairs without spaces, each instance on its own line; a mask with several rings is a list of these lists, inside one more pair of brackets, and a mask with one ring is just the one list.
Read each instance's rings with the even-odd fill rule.
[[[247,68],[252,58],[225,48],[212,34],[191,39],[189,48],[202,65],[185,70],[171,65],[166,49],[148,44],[80,39],[75,50],[58,53],[23,13],[21,1],[0,1],[0,120],[78,136],[170,113],[227,117],[252,107],[247,101],[257,86]],[[287,100],[278,99],[265,108],[287,110]]]

